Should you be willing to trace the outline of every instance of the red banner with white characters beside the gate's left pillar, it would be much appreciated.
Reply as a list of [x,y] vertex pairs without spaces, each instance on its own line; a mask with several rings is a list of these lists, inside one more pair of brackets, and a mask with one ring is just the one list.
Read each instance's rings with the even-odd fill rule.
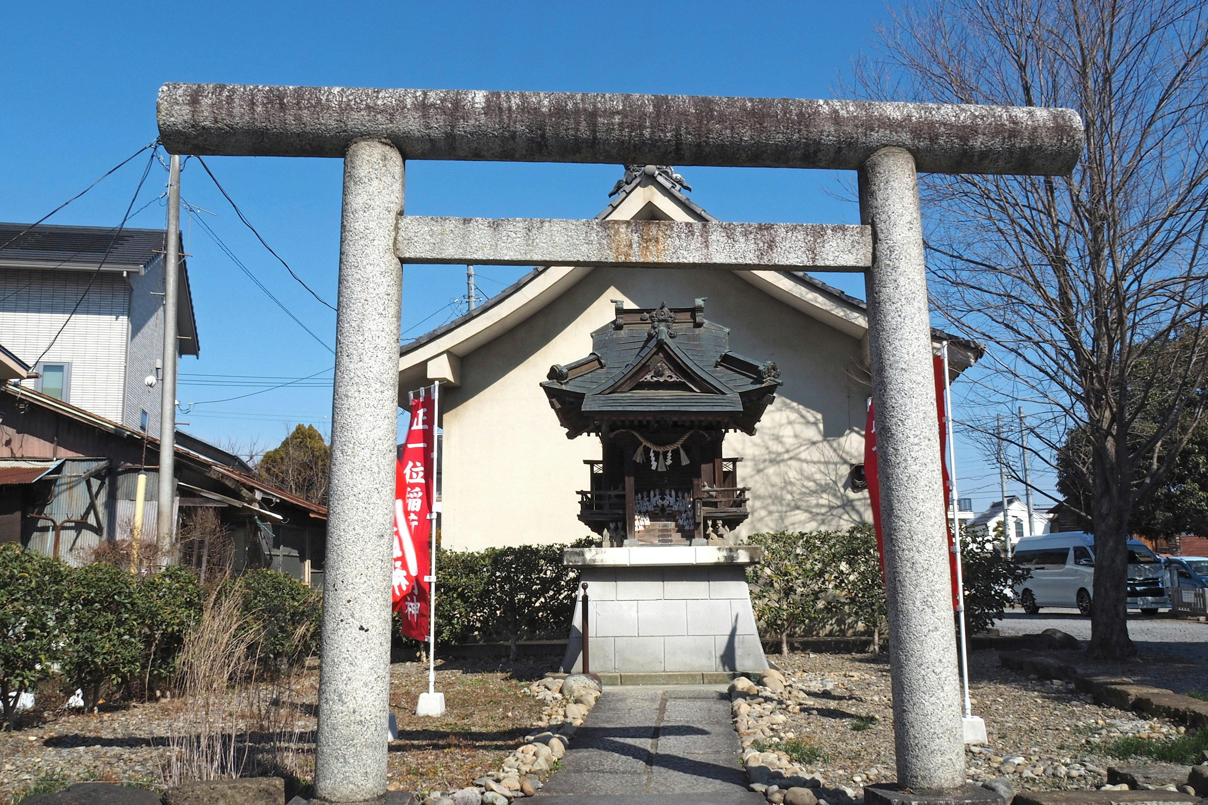
[[394,608],[402,616],[402,634],[428,640],[431,573],[432,444],[436,439],[432,398],[413,399],[411,425],[394,479]]

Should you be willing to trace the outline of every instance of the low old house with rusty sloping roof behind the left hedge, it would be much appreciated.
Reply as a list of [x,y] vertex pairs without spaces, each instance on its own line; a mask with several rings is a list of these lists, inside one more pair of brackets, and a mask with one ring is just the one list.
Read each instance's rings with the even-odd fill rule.
[[[227,532],[222,561],[233,571],[272,567],[321,587],[327,509],[254,478],[225,450],[176,437],[174,521],[211,509]],[[157,438],[12,381],[0,384],[0,542],[87,564],[99,549],[130,538],[140,472],[147,474],[144,539],[153,541],[158,465]],[[198,565],[199,555],[197,546],[184,544],[172,561]]]

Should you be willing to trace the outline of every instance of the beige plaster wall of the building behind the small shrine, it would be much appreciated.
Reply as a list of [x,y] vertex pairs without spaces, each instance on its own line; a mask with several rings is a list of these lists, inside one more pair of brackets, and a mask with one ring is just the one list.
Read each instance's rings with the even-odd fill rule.
[[842,529],[869,521],[867,492],[848,484],[863,462],[867,374],[860,342],[803,315],[730,272],[593,269],[553,303],[461,356],[460,387],[442,392],[442,541],[492,546],[569,542],[591,532],[577,519],[586,459],[597,436],[568,439],[540,383],[550,367],[583,357],[591,332],[627,307],[690,307],[730,327],[731,349],[776,361],[784,385],[754,437],[731,433],[739,483],[751,486],[741,535]]

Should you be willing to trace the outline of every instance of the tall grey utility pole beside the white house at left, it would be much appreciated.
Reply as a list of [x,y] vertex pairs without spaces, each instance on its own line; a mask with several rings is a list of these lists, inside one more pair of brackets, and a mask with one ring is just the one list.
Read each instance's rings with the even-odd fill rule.
[[168,564],[176,484],[176,281],[180,273],[180,157],[168,163],[168,244],[163,261],[163,385],[159,387],[159,486],[157,564]]

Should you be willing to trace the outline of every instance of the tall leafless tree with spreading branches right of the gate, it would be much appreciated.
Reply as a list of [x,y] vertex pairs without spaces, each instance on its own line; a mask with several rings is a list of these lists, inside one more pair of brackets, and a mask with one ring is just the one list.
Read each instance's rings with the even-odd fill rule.
[[980,425],[1027,401],[1034,455],[1087,490],[1100,657],[1136,653],[1129,515],[1204,415],[1206,23],[1189,0],[917,0],[854,71],[865,97],[1082,116],[1069,177],[920,189],[935,309],[989,344]]

